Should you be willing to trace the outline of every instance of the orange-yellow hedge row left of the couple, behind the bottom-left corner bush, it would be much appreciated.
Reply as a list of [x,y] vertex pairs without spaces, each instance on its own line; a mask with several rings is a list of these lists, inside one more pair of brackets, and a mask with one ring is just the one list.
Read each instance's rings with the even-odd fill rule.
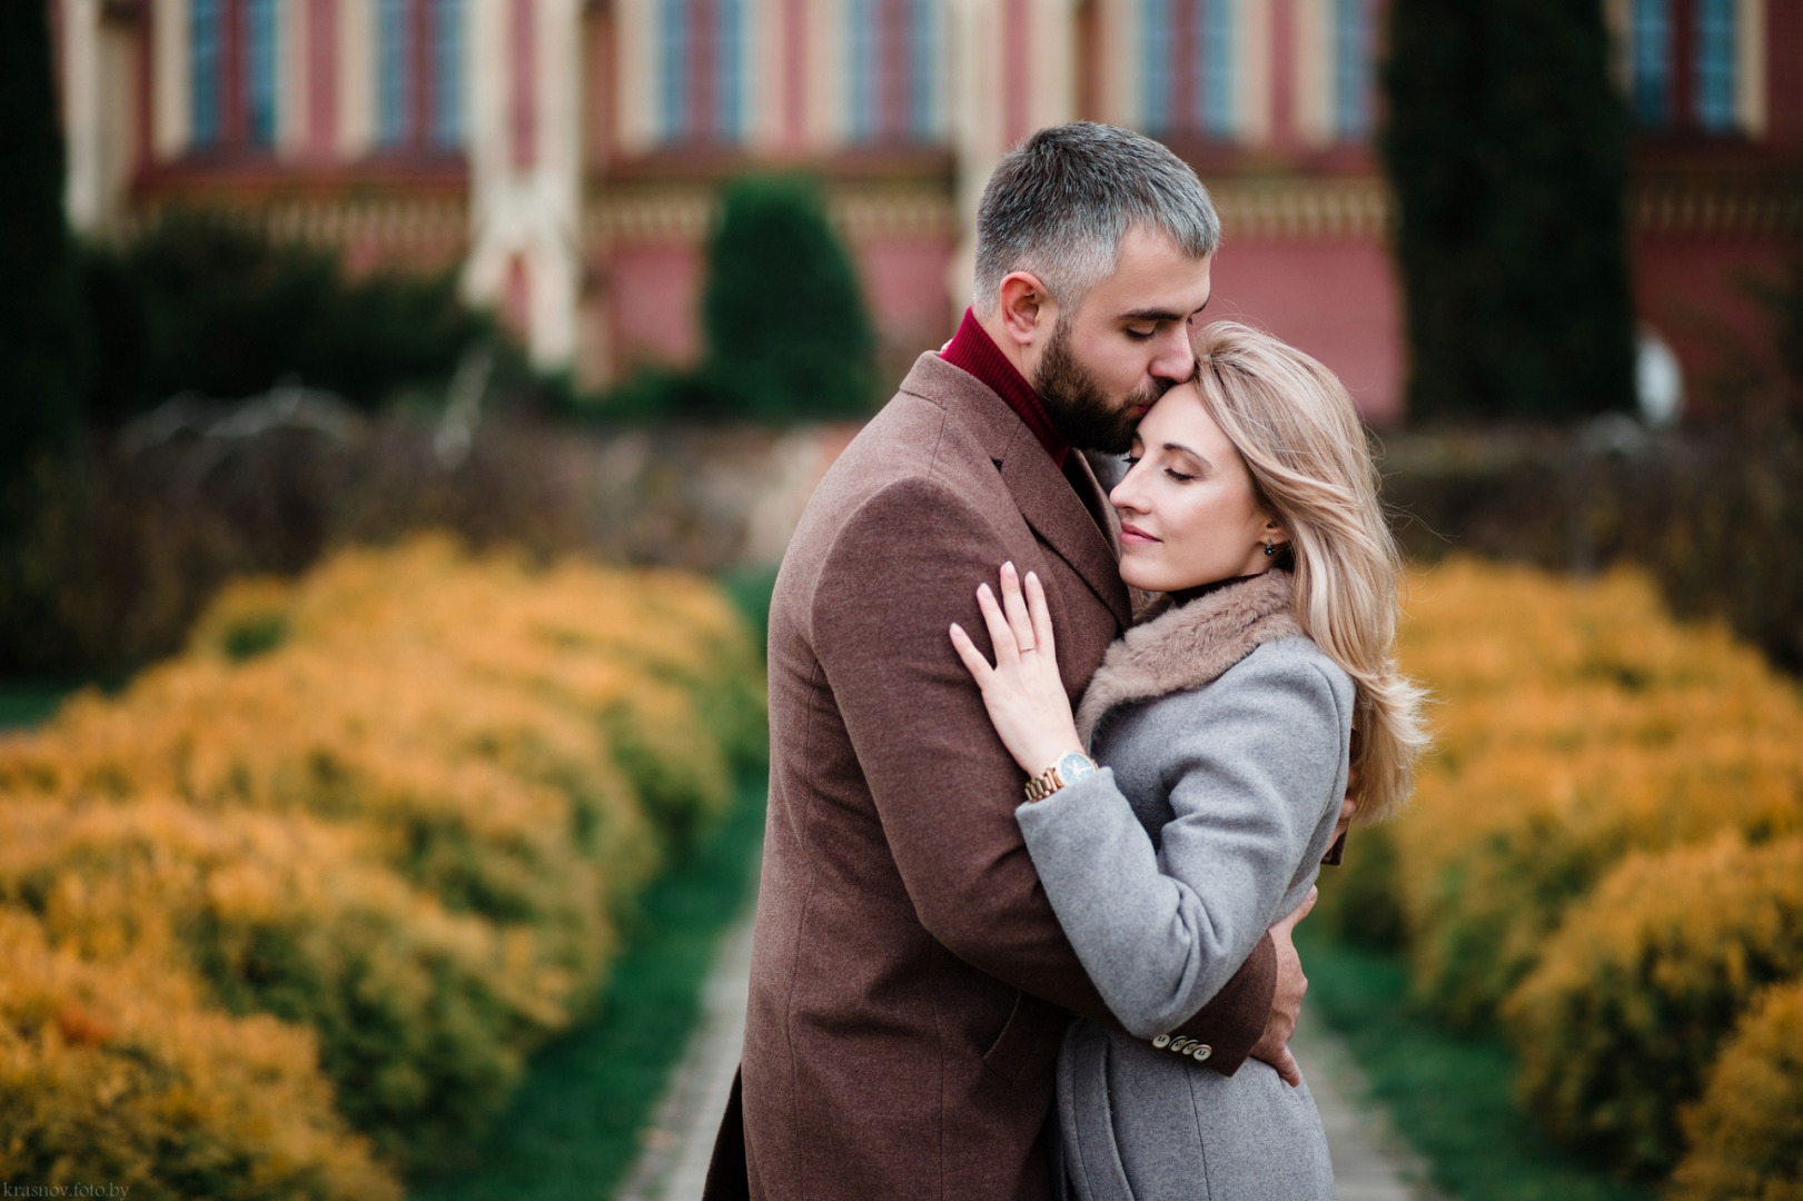
[[0,741],[0,912],[312,1031],[393,1167],[467,1145],[764,750],[718,588],[427,537],[247,581]]

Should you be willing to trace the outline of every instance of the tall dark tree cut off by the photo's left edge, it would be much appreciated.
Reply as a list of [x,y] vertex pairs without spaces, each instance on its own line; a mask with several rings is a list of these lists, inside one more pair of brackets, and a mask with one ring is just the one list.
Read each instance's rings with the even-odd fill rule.
[[0,4],[0,492],[81,429],[76,247],[63,215],[47,0]]

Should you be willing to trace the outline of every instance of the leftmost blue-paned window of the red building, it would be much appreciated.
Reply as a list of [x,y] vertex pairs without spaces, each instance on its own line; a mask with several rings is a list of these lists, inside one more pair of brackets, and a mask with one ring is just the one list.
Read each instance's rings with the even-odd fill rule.
[[274,146],[276,0],[193,0],[188,20],[195,146]]

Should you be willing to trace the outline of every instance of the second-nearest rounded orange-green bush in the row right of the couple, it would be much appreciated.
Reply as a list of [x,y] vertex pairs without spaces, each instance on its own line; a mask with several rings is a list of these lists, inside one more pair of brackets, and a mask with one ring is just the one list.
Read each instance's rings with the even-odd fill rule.
[[1668,1170],[1679,1111],[1763,986],[1803,974],[1803,837],[1628,855],[1572,905],[1506,1001],[1547,1129],[1630,1172]]

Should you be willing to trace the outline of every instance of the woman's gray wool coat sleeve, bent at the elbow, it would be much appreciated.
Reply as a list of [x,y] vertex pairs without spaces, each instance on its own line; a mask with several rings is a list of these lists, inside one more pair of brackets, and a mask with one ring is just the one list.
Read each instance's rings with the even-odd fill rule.
[[1051,907],[1134,1035],[1179,1028],[1313,878],[1343,792],[1343,698],[1313,656],[1253,653],[1145,714],[1174,817],[1154,849],[1109,768],[1017,819]]

